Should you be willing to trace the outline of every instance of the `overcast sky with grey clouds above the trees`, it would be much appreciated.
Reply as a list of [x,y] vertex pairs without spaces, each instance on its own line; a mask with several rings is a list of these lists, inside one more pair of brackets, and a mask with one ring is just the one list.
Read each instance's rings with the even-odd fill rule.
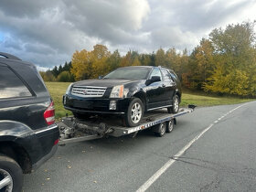
[[216,27],[256,19],[256,0],[0,0],[0,52],[41,68],[96,44],[192,50]]

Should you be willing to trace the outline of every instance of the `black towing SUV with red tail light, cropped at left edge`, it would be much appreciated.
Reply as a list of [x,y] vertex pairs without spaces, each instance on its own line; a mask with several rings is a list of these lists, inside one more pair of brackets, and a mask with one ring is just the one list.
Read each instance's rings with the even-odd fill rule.
[[20,191],[23,173],[57,150],[54,104],[33,64],[0,52],[0,191]]

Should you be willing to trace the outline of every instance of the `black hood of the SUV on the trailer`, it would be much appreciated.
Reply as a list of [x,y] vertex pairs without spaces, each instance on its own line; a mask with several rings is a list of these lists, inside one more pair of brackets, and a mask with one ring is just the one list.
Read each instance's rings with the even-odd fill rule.
[[125,85],[131,82],[136,82],[139,80],[108,80],[108,79],[102,79],[102,80],[81,80],[78,82],[75,82],[73,86],[92,86],[92,87],[107,87],[112,88],[116,85]]

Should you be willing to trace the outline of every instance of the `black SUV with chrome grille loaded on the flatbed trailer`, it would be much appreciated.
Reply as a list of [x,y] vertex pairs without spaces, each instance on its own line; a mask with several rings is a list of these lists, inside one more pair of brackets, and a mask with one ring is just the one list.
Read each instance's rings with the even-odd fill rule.
[[138,125],[147,111],[167,108],[176,113],[180,100],[176,73],[149,66],[119,68],[101,80],[72,83],[63,96],[65,109],[78,118],[91,113],[121,114],[127,126]]

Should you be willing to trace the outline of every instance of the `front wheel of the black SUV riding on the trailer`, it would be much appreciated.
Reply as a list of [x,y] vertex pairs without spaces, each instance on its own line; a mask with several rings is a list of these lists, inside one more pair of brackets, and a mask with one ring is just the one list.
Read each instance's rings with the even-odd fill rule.
[[139,98],[134,98],[125,113],[124,120],[127,126],[137,126],[144,116],[144,104]]

